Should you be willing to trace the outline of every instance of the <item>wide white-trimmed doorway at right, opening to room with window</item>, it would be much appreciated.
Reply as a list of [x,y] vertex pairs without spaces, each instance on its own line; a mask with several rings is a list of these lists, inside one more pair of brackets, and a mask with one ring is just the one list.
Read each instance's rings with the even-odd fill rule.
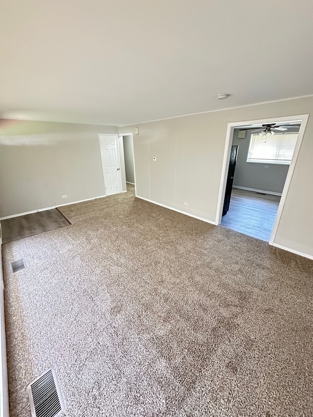
[[307,120],[228,124],[217,224],[273,243]]

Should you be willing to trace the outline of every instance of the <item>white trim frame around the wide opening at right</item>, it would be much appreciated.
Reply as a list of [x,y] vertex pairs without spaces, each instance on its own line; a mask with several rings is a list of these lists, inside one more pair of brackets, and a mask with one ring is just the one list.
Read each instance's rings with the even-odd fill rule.
[[233,142],[233,135],[235,128],[248,126],[248,125],[254,125],[254,124],[266,124],[266,123],[281,123],[281,122],[289,122],[291,120],[301,120],[301,126],[299,129],[297,141],[295,144],[294,152],[291,159],[291,164],[288,170],[288,174],[286,177],[285,185],[283,188],[282,196],[280,198],[277,215],[274,221],[272,233],[269,239],[269,244],[273,244],[279,221],[283,212],[283,208],[285,205],[286,197],[288,194],[289,186],[291,183],[291,178],[293,175],[294,167],[298,158],[300,146],[302,143],[303,135],[307,127],[309,119],[309,114],[297,114],[297,115],[290,115],[290,116],[281,116],[281,117],[268,117],[263,119],[256,119],[256,120],[245,120],[240,122],[231,122],[227,123],[227,130],[226,130],[226,140],[225,140],[225,148],[224,148],[224,158],[223,158],[223,165],[222,165],[222,175],[221,175],[221,182],[220,182],[220,188],[219,188],[219,197],[218,197],[218,204],[217,204],[217,210],[216,210],[216,219],[215,223],[217,225],[221,224],[222,220],[222,211],[223,211],[223,201],[224,201],[224,195],[225,195],[225,188],[226,188],[226,180],[227,180],[227,170],[228,170],[228,163],[229,163],[229,157],[230,157],[230,150],[231,145]]

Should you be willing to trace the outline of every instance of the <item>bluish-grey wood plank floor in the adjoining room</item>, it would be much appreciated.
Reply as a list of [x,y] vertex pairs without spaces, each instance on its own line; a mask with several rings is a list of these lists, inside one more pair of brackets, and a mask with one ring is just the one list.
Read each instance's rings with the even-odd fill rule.
[[280,197],[232,189],[229,211],[222,226],[263,241],[269,241]]

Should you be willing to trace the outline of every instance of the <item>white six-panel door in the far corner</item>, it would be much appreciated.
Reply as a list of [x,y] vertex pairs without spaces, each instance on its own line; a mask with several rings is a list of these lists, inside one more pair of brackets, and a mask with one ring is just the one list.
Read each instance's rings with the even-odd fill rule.
[[116,134],[99,134],[102,168],[106,195],[122,192],[121,169],[119,163]]

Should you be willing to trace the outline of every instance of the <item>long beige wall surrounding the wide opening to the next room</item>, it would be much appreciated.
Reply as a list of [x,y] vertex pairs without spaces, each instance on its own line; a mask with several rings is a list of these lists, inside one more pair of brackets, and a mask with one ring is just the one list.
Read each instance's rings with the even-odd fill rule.
[[[280,116],[292,120],[294,115],[312,112],[313,97],[305,97],[138,124],[137,195],[214,222],[227,123]],[[134,128],[121,127],[119,132]],[[309,256],[313,256],[312,137],[309,117],[274,241]]]

